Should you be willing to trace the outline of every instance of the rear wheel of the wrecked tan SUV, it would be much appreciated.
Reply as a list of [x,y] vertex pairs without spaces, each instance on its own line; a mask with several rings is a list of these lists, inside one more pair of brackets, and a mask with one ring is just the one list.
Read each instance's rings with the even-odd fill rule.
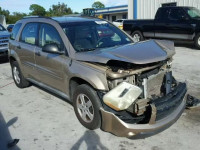
[[11,63],[11,68],[12,68],[12,76],[13,76],[13,80],[16,84],[16,86],[18,88],[26,88],[26,87],[29,87],[30,86],[30,82],[27,81],[20,68],[19,68],[19,65],[16,61],[12,62]]

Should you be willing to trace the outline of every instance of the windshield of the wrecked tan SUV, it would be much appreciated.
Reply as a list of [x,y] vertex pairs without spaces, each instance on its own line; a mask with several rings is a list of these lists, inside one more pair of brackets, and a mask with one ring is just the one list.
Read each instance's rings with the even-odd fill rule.
[[131,43],[126,34],[106,21],[61,24],[77,52]]

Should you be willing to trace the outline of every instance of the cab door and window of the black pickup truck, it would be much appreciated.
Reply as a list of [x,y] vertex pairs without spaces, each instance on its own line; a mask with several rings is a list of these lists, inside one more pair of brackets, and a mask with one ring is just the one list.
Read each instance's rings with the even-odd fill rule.
[[192,40],[194,29],[182,8],[161,10],[162,18],[155,21],[155,37]]

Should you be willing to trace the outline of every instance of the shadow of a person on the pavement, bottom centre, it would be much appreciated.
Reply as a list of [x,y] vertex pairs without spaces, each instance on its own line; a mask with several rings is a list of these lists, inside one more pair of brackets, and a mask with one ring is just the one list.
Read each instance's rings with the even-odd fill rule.
[[87,150],[108,150],[101,141],[99,136],[95,133],[95,131],[86,130],[82,137],[72,146],[70,150],[81,150],[81,144],[85,142],[87,145]]

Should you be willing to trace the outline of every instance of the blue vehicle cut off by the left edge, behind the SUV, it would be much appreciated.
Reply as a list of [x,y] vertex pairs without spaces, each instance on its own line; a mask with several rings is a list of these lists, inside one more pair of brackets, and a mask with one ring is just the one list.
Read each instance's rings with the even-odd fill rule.
[[0,60],[8,58],[8,41],[10,34],[0,24]]

